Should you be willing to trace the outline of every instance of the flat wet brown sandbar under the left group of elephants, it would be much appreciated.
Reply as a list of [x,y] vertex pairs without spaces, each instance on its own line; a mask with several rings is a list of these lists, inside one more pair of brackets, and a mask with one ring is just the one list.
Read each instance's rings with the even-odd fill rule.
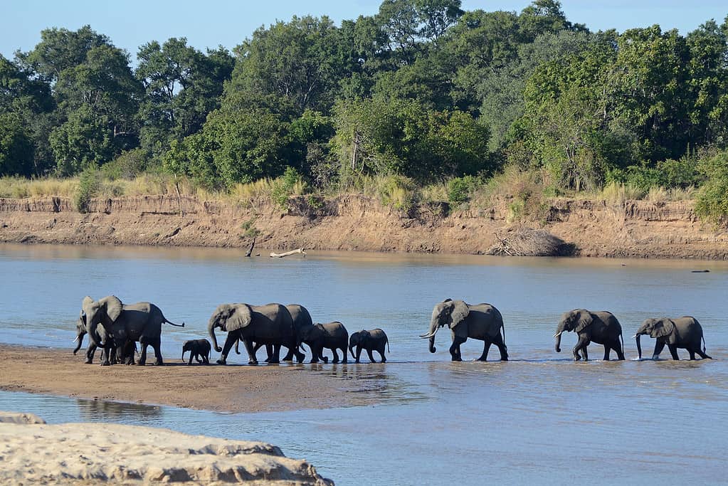
[[[0,389],[216,412],[263,412],[373,405],[366,384],[337,376],[337,365],[102,367],[82,351],[0,344]],[[98,361],[98,354],[96,356]],[[341,369],[341,365],[338,365]]]

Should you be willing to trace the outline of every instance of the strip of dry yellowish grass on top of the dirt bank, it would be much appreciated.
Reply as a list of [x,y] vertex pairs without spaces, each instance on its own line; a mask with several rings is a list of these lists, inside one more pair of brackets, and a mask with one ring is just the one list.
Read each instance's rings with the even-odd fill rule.
[[[237,184],[229,191],[209,191],[196,186],[188,178],[149,173],[131,179],[108,179],[102,172],[92,171],[76,178],[0,178],[0,197],[23,199],[41,196],[74,198],[77,209],[83,210],[90,197],[144,196],[152,194],[177,194],[197,196],[202,200],[222,200],[242,204],[258,204],[271,201],[285,210],[290,196],[312,194],[331,197],[341,194],[361,194],[378,199],[381,204],[396,210],[408,211],[416,204],[448,201],[451,210],[486,210],[496,201],[505,202],[509,219],[545,220],[550,202],[559,196],[575,199],[603,199],[612,204],[624,204],[629,200],[650,202],[684,201],[696,199],[699,191],[694,187],[652,187],[645,191],[629,183],[612,182],[598,191],[579,193],[557,191],[544,183],[538,172],[524,172],[507,167],[493,178],[483,180],[466,176],[453,178],[427,186],[418,186],[414,180],[400,175],[352,175],[338,185],[323,189],[311,188],[295,170],[287,171],[280,178],[264,178],[253,183]],[[312,199],[313,200],[313,199]]]

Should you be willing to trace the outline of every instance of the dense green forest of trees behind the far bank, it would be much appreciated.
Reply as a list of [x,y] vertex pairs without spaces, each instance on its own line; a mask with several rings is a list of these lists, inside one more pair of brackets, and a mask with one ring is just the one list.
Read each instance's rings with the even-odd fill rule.
[[556,0],[521,12],[384,0],[341,25],[278,21],[233,52],[149,41],[132,68],[88,25],[49,28],[30,52],[0,56],[0,175],[104,166],[225,189],[289,167],[315,186],[515,166],[554,190],[712,183],[720,194],[727,39],[728,18],[687,36],[595,33]]

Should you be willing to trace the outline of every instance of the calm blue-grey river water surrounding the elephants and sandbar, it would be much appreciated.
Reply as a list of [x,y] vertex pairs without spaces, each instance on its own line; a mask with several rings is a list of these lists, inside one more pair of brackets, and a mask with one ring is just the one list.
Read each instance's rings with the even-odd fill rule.
[[[264,253],[265,254],[265,253]],[[728,263],[309,252],[243,258],[240,250],[0,245],[0,341],[71,348],[84,295],[150,300],[167,319],[162,352],[206,337],[219,303],[301,303],[349,332],[381,327],[384,365],[323,365],[363,379],[379,405],[218,414],[2,392],[0,409],[50,422],[115,421],[271,442],[337,485],[725,482],[728,447]],[[693,273],[692,270],[710,270]],[[502,312],[510,362],[449,361],[449,335],[430,354],[432,306],[444,298]],[[553,349],[571,308],[612,311],[625,362],[571,362],[573,334]],[[647,316],[695,316],[705,362],[637,361],[630,338]],[[27,331],[28,325],[33,333]],[[652,340],[643,351],[652,354]],[[590,356],[601,357],[601,346]],[[464,359],[482,343],[468,340]],[[681,358],[687,352],[679,350]],[[491,349],[490,359],[497,359]],[[69,359],[79,359],[69,352]],[[245,352],[232,362],[247,360]],[[287,365],[282,365],[287,366]],[[255,368],[251,368],[254,373]]]

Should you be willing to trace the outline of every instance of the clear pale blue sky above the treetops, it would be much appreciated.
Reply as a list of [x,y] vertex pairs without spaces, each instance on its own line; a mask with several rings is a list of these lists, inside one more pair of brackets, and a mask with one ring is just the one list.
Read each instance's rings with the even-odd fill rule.
[[[229,49],[261,25],[288,20],[293,15],[328,15],[337,23],[371,15],[380,0],[3,0],[0,7],[0,54],[12,57],[27,51],[49,27],[71,30],[89,24],[111,37],[133,57],[151,40],[186,37],[204,49]],[[467,10],[521,11],[530,0],[463,0]],[[728,0],[562,0],[571,22],[585,23],[593,31],[644,27],[654,23],[663,30],[687,33],[705,20],[721,23],[728,15]]]

